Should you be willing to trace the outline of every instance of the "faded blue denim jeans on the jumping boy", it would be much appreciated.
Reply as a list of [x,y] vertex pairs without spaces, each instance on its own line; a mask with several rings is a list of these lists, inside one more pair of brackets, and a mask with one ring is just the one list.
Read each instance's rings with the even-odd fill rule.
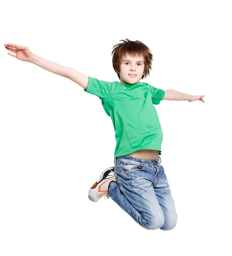
[[155,160],[131,156],[115,157],[116,182],[109,184],[109,195],[140,226],[148,230],[171,230],[177,214],[169,183]]

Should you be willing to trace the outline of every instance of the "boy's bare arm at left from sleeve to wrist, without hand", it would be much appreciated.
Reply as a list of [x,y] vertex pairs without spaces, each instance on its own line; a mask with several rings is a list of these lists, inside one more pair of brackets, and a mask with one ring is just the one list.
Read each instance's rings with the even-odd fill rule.
[[79,84],[84,89],[87,89],[88,76],[80,73],[77,70],[72,69],[71,67],[65,67],[55,62],[48,61],[38,55],[35,55],[34,53],[32,54],[31,62],[54,74],[66,77]]

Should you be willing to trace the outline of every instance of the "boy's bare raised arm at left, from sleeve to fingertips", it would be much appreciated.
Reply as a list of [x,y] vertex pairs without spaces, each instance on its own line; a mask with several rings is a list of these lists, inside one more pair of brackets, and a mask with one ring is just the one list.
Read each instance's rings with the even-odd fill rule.
[[4,45],[5,45],[5,48],[8,49],[9,51],[16,53],[16,55],[13,55],[8,52],[8,54],[11,55],[12,57],[17,58],[20,61],[28,61],[33,64],[36,64],[37,66],[42,67],[43,69],[48,70],[54,74],[71,79],[72,81],[74,81],[75,83],[83,87],[84,89],[87,88],[88,76],[84,75],[83,73],[80,73],[79,71],[74,70],[70,67],[65,67],[55,62],[48,61],[44,58],[41,58],[40,56],[32,53],[30,49],[26,46],[19,46],[17,44],[4,44]]

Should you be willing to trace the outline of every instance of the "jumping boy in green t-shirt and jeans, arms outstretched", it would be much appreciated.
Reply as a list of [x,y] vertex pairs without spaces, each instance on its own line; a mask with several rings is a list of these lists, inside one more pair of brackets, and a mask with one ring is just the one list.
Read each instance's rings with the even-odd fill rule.
[[[89,190],[97,202],[111,197],[125,212],[148,230],[171,230],[177,222],[169,183],[160,165],[163,133],[154,105],[161,100],[200,100],[169,89],[161,90],[140,82],[149,75],[152,53],[140,41],[116,44],[112,51],[113,68],[120,82],[102,81],[33,54],[28,47],[5,44],[12,55],[52,73],[71,79],[101,99],[115,128],[115,166],[107,168]],[[153,105],[154,104],[154,105]]]

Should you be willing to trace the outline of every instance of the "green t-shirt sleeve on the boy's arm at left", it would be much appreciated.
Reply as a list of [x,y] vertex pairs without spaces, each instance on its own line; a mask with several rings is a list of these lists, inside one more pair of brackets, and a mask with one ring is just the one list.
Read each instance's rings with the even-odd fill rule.
[[98,80],[96,78],[89,76],[87,89],[84,89],[84,91],[96,95],[104,102],[106,98],[109,96],[111,88],[112,82]]

